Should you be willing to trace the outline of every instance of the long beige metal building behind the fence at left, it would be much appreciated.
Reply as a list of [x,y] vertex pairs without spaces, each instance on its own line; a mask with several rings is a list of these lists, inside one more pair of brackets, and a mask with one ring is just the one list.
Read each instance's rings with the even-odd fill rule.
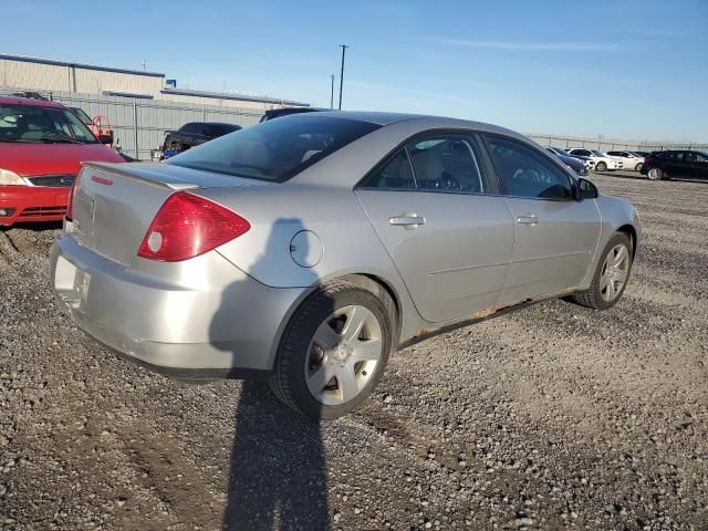
[[168,85],[165,74],[73,61],[0,53],[0,86],[32,91],[164,100],[266,111],[308,103],[238,92],[211,92]]

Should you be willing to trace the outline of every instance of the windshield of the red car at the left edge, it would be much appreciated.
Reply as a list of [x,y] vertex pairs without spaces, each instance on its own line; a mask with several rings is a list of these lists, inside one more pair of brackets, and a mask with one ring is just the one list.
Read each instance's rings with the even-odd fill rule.
[[0,105],[0,142],[95,144],[74,113],[40,105]]

